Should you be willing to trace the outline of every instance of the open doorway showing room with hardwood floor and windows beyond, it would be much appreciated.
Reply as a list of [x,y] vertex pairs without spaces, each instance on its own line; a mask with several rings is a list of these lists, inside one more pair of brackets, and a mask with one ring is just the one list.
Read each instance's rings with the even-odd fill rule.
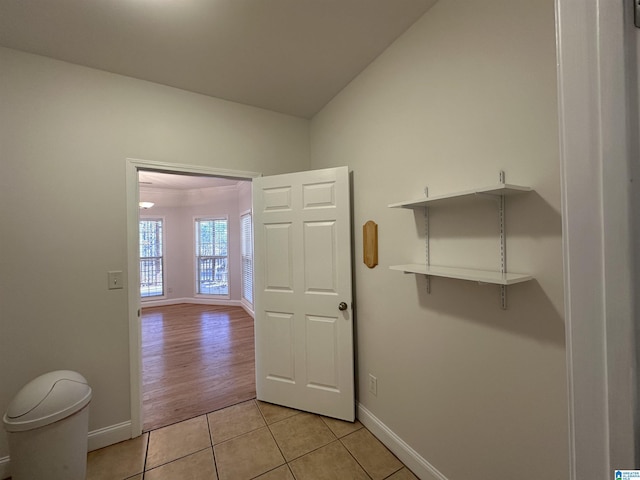
[[255,398],[244,227],[257,175],[134,160],[127,172],[136,435]]

